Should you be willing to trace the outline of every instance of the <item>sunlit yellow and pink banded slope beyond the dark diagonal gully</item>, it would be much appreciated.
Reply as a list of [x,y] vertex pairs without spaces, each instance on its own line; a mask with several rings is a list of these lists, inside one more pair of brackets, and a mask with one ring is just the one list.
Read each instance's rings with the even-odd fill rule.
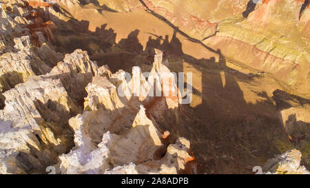
[[[309,1],[99,1],[145,8],[227,58],[271,73],[309,96]],[[142,6],[141,6],[142,5]]]

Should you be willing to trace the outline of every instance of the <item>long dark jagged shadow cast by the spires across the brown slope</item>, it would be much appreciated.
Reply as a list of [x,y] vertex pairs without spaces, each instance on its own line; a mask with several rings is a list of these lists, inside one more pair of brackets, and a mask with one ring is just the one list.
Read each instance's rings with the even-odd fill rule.
[[[194,93],[202,98],[202,102],[196,107],[182,105],[177,111],[171,110],[166,117],[156,119],[159,125],[172,132],[175,138],[184,136],[191,141],[192,150],[201,167],[198,172],[248,174],[251,173],[249,166],[263,165],[267,158],[272,158],[274,154],[293,148],[278,118],[279,110],[264,89],[258,92],[262,99],[256,104],[245,101],[244,93],[238,83],[254,83],[256,75],[253,77],[253,75],[243,74],[227,67],[225,57],[220,50],[204,46],[208,50],[211,49],[214,56],[219,56],[218,61],[215,57],[196,59],[183,52],[183,44],[176,36],[177,32],[182,33],[175,30],[170,41],[169,36],[163,39],[163,36],[151,34],[156,36],[156,39],[150,37],[143,51],[137,38],[138,30],[134,30],[127,39],[122,39],[123,41],[117,44],[114,37],[116,33],[112,28],[106,30],[107,25],[102,25],[96,32],[90,32],[88,31],[89,23],[86,21],[74,20],[72,23],[63,22],[63,24],[79,25],[79,28],[78,30],[63,30],[60,34],[74,32],[79,35],[83,33],[94,40],[99,47],[104,46],[100,50],[94,50],[90,48],[89,43],[81,45],[79,42],[72,42],[69,43],[70,48],[89,50],[90,56],[101,60],[102,63],[99,65],[107,63],[114,72],[118,69],[128,70],[136,65],[136,62],[132,61],[139,55],[144,57],[145,63],[152,62],[154,48],[162,50],[165,59],[180,60],[179,67],[174,67],[178,72],[184,72],[183,61],[192,65],[196,70],[203,68],[200,72],[202,74],[201,90],[196,88],[197,85],[193,85]],[[176,27],[172,26],[172,28]],[[189,41],[196,42],[194,39],[189,39]],[[121,51],[112,52],[111,48],[115,47]],[[110,57],[104,58],[110,53],[113,57],[120,56],[120,54],[131,56],[128,55],[121,60],[113,59],[109,62]],[[171,118],[167,118],[168,116]]]

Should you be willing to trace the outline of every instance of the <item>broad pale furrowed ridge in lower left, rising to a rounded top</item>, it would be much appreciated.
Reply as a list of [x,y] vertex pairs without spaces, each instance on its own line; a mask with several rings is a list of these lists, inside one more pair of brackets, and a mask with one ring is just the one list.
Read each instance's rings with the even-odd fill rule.
[[[89,73],[91,79],[94,72],[90,66],[96,67],[96,63],[87,61],[87,57],[85,52],[76,50],[65,56],[65,62],[60,62],[50,73],[30,76],[25,83],[3,93],[1,158],[4,163],[1,173],[45,171],[47,165],[56,162],[59,154],[72,147],[74,132],[68,120],[79,112],[78,103],[72,98],[75,98],[74,94],[83,93],[79,90],[84,90],[74,85],[87,81],[81,76],[83,74]],[[70,97],[71,93],[67,91],[72,87],[75,93]]]

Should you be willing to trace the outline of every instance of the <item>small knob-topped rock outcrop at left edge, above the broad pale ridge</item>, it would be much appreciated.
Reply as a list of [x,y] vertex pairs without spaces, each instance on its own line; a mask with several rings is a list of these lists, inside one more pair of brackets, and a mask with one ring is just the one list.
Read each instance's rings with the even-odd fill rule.
[[[1,56],[1,92],[10,90],[29,76],[50,72],[55,61],[59,59],[56,52],[50,50],[48,46],[44,50],[43,48],[30,48],[29,36],[15,38],[14,42],[14,49],[19,51],[8,52]],[[45,63],[40,59],[40,55],[42,59],[49,59],[49,61]]]

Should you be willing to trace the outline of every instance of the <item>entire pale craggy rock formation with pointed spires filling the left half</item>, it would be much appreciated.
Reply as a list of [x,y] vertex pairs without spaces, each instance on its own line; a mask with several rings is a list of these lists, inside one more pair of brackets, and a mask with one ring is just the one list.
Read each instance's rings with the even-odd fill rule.
[[43,8],[43,16],[28,7],[46,2],[17,4],[23,1],[0,3],[0,174],[42,174],[51,165],[60,174],[186,169],[194,160],[189,141],[170,143],[156,122],[180,99],[161,51],[151,77],[135,66],[128,81],[123,70],[98,67],[83,50],[55,52],[56,25],[43,17],[58,13]]

